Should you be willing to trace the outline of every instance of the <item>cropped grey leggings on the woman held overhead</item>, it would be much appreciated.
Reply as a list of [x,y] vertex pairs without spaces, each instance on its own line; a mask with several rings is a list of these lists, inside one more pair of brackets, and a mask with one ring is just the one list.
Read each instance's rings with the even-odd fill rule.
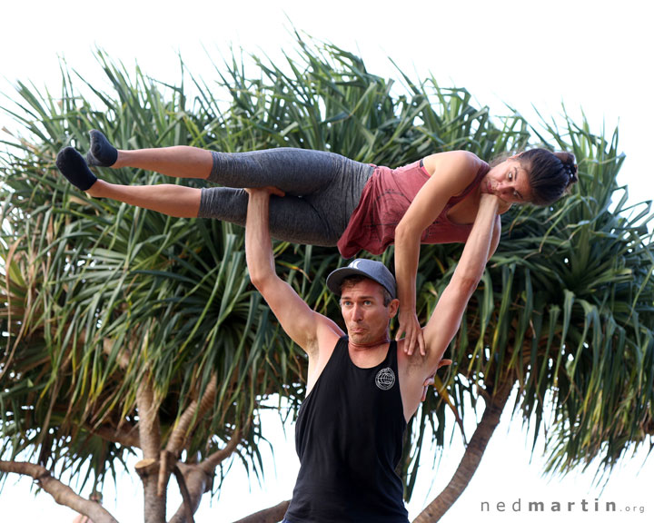
[[212,154],[208,180],[223,187],[202,190],[199,218],[245,225],[248,195],[239,188],[272,185],[286,193],[271,198],[272,237],[310,245],[336,245],[374,171],[367,163],[309,149]]

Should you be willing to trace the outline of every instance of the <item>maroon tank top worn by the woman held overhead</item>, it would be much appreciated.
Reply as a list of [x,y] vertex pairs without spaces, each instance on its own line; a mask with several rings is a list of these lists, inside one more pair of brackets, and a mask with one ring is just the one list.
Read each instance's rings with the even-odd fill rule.
[[[490,170],[482,162],[474,180],[457,196],[452,196],[441,214],[422,232],[421,243],[466,242],[472,223],[451,222],[447,213],[465,199],[481,183]],[[374,173],[363,187],[359,204],[338,241],[343,258],[352,258],[360,250],[381,254],[395,242],[395,228],[418,191],[430,179],[421,161],[398,169],[375,166]]]

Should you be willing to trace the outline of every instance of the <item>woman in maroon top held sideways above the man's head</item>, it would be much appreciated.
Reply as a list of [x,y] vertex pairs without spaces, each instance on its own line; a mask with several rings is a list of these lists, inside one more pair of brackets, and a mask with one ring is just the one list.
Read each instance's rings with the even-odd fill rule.
[[[345,258],[364,249],[381,254],[395,242],[395,274],[401,309],[399,331],[410,353],[423,352],[415,313],[415,277],[420,244],[465,242],[477,215],[481,193],[495,194],[502,205],[549,205],[577,182],[570,153],[532,149],[492,168],[473,153],[431,154],[420,162],[391,170],[359,163],[339,154],[304,149],[215,153],[188,146],[119,151],[103,133],[91,131],[84,157],[72,147],[57,156],[57,167],[89,195],[111,198],[177,217],[214,218],[244,225],[246,187],[275,187],[273,237],[287,242],[334,246]],[[88,164],[87,164],[88,163]],[[167,176],[201,178],[222,187],[116,185],[98,180],[88,165],[133,167]],[[492,252],[500,238],[500,219]]]

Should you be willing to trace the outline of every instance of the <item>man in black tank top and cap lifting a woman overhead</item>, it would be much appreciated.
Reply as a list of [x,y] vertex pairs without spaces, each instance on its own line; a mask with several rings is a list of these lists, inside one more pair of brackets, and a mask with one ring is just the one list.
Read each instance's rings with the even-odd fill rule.
[[300,472],[284,521],[408,523],[395,473],[403,432],[481,279],[493,230],[499,231],[499,199],[481,196],[461,260],[422,329],[424,353],[410,355],[404,340],[389,338],[399,306],[391,272],[380,262],[359,259],[329,275],[327,286],[341,296],[346,335],[277,277],[268,232],[270,194],[249,192],[250,278],[309,359],[307,397],[295,430]]

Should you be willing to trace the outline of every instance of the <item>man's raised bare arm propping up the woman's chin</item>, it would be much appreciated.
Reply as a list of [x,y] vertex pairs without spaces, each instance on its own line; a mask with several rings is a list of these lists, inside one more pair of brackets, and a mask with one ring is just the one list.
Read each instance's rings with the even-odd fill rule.
[[468,241],[463,248],[461,260],[451,277],[451,281],[436,304],[423,330],[428,348],[425,371],[434,372],[439,361],[454,337],[463,311],[483,275],[484,267],[499,239],[497,215],[500,199],[492,194],[481,194],[481,202]]

